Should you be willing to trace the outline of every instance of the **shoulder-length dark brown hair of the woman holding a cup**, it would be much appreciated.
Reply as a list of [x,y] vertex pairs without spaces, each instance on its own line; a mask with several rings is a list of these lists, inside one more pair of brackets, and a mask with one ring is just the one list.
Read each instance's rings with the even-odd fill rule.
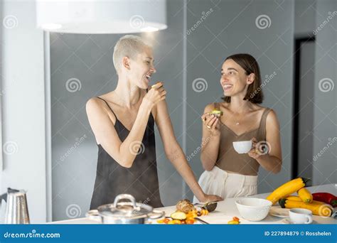
[[[261,86],[260,67],[257,63],[257,60],[255,60],[252,55],[245,53],[230,55],[225,59],[225,61],[229,59],[240,65],[241,68],[245,70],[246,75],[250,75],[251,73],[255,74],[255,80],[248,86],[247,93],[243,99],[248,100],[254,104],[261,104],[263,101],[263,93]],[[230,103],[230,97],[223,97],[222,99],[225,102]]]

